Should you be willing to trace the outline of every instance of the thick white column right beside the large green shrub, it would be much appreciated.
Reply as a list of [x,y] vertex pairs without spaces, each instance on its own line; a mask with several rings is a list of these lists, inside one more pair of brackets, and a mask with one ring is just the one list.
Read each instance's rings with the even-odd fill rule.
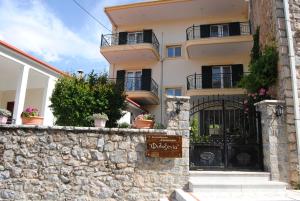
[[47,85],[44,88],[41,115],[44,117],[44,126],[53,126],[54,116],[49,106],[51,105],[50,97],[52,96],[56,80],[52,77],[48,77],[47,79]]

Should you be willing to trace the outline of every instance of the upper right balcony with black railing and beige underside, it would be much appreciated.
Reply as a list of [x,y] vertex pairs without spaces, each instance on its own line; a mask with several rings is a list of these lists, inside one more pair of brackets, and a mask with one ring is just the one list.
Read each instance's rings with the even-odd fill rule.
[[249,56],[253,41],[248,22],[193,25],[187,28],[186,39],[191,59]]

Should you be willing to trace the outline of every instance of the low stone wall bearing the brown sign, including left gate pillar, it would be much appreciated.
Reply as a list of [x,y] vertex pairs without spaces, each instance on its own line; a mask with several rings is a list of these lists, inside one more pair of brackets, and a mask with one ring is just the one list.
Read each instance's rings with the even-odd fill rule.
[[[185,188],[188,99],[179,113],[167,99],[168,130],[0,126],[0,200],[157,201]],[[182,158],[146,157],[148,134],[183,135]]]

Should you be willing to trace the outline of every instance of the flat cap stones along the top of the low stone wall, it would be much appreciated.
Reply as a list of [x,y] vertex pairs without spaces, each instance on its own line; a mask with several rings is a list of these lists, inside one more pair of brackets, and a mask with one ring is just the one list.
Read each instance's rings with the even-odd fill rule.
[[36,130],[62,130],[62,131],[99,131],[101,133],[158,133],[167,134],[167,129],[133,129],[133,128],[96,128],[75,126],[36,126],[36,125],[0,125],[0,129],[36,129]]

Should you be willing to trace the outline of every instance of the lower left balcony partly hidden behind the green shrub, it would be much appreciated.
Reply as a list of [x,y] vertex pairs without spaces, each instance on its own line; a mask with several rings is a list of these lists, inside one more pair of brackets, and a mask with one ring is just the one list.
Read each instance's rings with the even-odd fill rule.
[[112,80],[126,92],[128,98],[138,104],[159,104],[158,84],[151,77],[125,77]]

